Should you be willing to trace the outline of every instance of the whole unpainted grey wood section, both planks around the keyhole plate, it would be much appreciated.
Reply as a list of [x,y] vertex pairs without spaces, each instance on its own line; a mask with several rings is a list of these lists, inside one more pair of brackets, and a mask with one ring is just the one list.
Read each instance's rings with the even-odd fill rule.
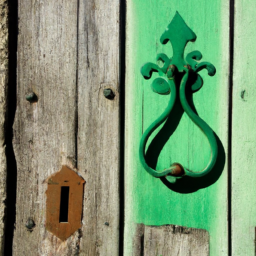
[[[13,255],[118,255],[119,3],[24,0],[18,10]],[[64,242],[45,229],[45,180],[62,165],[86,181],[82,227]]]

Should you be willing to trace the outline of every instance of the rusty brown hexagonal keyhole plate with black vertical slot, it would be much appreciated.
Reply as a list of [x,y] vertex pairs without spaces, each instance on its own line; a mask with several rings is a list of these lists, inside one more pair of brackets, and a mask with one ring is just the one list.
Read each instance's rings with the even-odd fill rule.
[[68,166],[47,179],[46,229],[66,240],[81,227],[85,180]]

